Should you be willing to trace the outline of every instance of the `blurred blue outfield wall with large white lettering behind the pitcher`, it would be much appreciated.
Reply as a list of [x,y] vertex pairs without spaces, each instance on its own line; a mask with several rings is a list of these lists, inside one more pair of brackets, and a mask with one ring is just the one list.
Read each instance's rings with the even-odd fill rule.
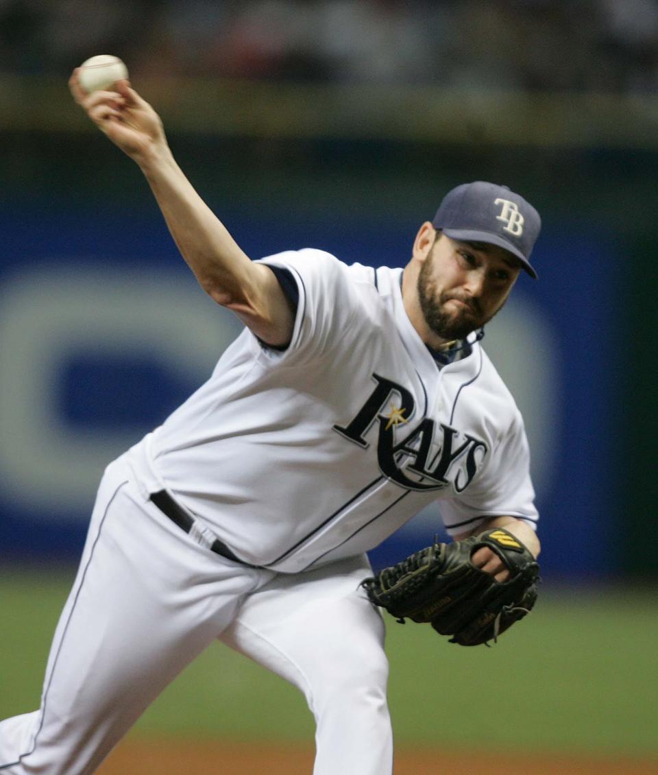
[[[222,215],[252,257],[317,246],[391,266],[406,263],[420,226]],[[0,557],[72,559],[105,464],[207,377],[240,326],[197,288],[153,207],[5,205],[0,236]],[[546,577],[617,570],[610,244],[545,217],[540,280],[519,278],[484,342],[526,417]],[[392,563],[440,532],[429,509],[372,560]]]

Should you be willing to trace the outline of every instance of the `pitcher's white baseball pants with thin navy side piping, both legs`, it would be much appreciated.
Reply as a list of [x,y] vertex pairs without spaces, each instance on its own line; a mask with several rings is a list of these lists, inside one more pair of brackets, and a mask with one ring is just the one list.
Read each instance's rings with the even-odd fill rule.
[[303,691],[317,723],[314,775],[390,775],[384,627],[358,590],[365,558],[294,575],[224,560],[144,501],[131,476],[118,460],[101,481],[41,707],[0,722],[0,775],[94,773],[215,639]]

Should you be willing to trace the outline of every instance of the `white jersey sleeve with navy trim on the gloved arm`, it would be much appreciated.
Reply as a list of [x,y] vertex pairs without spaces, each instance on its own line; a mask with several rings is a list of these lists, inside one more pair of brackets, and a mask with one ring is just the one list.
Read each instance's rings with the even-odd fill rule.
[[463,496],[438,502],[446,531],[454,536],[477,528],[488,517],[509,515],[536,529],[539,518],[530,478],[530,454],[523,418],[518,409],[495,447],[478,480]]

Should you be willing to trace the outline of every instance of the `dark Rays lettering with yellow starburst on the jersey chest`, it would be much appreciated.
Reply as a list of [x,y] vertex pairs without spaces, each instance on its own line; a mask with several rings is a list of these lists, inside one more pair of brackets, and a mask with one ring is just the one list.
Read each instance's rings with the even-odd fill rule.
[[334,431],[368,449],[365,435],[379,420],[377,462],[382,474],[410,490],[443,490],[452,482],[456,491],[464,491],[477,474],[487,445],[429,417],[410,427],[416,408],[410,391],[379,374],[372,377],[375,390],[352,421],[334,425]]

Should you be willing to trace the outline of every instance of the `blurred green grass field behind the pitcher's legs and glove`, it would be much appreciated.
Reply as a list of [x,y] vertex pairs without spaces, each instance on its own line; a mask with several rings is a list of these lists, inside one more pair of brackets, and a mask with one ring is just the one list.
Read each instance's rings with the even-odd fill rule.
[[[72,570],[0,574],[0,718],[33,710]],[[388,618],[399,746],[656,757],[658,596],[543,589],[491,648],[464,649]],[[300,694],[218,644],[139,721],[131,739],[310,744]]]

